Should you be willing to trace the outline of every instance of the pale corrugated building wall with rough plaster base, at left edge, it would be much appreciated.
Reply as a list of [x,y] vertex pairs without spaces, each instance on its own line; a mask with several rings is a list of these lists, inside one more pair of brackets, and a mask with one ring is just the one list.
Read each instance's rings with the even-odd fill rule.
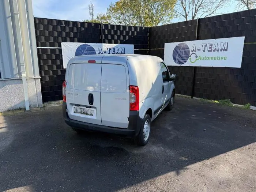
[[0,112],[41,107],[31,0],[0,0]]

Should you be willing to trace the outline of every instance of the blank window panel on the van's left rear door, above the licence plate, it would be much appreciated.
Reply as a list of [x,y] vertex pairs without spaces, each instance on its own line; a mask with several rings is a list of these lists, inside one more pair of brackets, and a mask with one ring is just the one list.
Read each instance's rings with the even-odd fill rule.
[[68,72],[68,86],[71,89],[101,91],[101,64],[71,64]]

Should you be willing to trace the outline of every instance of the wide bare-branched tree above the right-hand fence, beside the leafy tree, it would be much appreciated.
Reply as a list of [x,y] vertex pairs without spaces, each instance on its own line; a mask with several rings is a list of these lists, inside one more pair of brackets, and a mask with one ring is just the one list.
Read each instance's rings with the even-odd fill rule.
[[229,0],[178,0],[175,12],[187,20],[208,17],[218,14]]

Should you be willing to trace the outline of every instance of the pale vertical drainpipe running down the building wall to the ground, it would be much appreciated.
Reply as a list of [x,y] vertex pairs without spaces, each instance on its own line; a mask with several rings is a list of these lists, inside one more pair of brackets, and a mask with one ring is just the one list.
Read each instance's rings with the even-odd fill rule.
[[16,37],[14,38],[16,38],[15,40],[18,44],[18,46],[16,47],[16,50],[18,49],[17,51],[19,54],[20,72],[21,72],[22,84],[23,84],[23,90],[24,90],[25,107],[26,107],[26,110],[29,110],[29,94],[27,91],[26,67],[24,62],[24,53],[23,53],[22,37],[21,37],[21,31],[20,31],[20,21],[19,21],[19,11],[18,11],[17,0],[10,0],[10,9],[11,9],[11,13],[13,13],[13,18],[15,23],[14,30],[16,32]]

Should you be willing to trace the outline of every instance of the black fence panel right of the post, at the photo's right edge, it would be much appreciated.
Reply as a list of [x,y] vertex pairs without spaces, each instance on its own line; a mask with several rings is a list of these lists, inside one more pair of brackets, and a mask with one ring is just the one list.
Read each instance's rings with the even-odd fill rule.
[[256,10],[199,19],[198,40],[241,36],[241,68],[197,67],[195,97],[256,106]]

